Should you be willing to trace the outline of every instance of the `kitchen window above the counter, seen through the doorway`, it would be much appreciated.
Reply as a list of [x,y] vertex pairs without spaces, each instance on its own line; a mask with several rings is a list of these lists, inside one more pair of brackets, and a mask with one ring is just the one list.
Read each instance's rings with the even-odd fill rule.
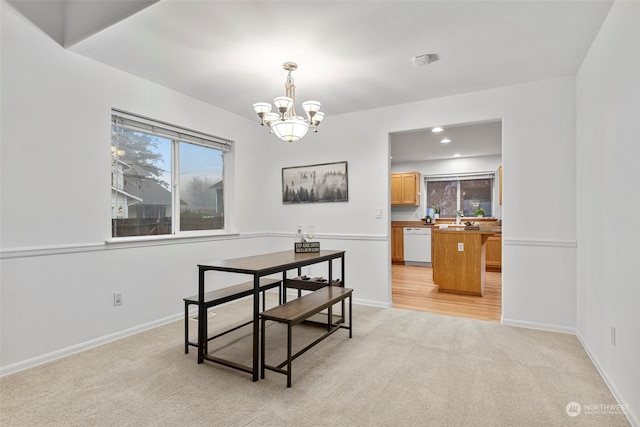
[[464,216],[476,216],[484,208],[484,216],[492,216],[494,174],[428,176],[427,206],[439,206],[440,217],[453,218],[461,210]]

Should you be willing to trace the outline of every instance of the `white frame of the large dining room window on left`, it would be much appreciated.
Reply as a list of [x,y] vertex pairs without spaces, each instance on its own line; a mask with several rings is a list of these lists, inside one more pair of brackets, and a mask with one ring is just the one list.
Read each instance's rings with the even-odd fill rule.
[[[140,116],[134,113],[112,108],[110,130],[113,133],[114,126],[122,126],[124,128],[142,132],[149,135],[161,137],[170,140],[171,147],[171,232],[168,234],[158,235],[142,235],[142,236],[113,236],[111,230],[108,231],[109,238],[107,243],[118,244],[127,242],[146,242],[174,240],[198,237],[217,237],[234,234],[231,232],[233,220],[231,218],[230,205],[232,203],[232,176],[234,160],[234,143],[231,140],[205,134],[193,129],[184,128],[149,117]],[[193,144],[205,148],[212,148],[222,152],[222,180],[223,180],[223,218],[224,226],[222,229],[210,230],[180,230],[180,145],[181,143]],[[110,141],[110,145],[113,142]],[[111,168],[113,173],[113,168]],[[113,191],[113,177],[111,181],[111,192]],[[111,204],[111,203],[110,203]],[[113,215],[111,215],[111,219]],[[111,221],[110,221],[111,222]]]

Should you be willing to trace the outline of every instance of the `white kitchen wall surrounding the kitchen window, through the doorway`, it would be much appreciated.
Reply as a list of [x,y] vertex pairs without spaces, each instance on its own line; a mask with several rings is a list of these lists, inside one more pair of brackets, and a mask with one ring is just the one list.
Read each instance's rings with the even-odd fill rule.
[[[391,142],[393,144],[393,142]],[[502,164],[502,156],[464,157],[459,159],[429,160],[420,162],[402,162],[391,165],[391,172],[420,172],[420,206],[392,206],[391,221],[417,221],[426,215],[426,186],[425,175],[446,175],[457,173],[496,172]],[[499,176],[496,176],[495,186],[498,187]],[[502,218],[497,191],[494,194],[493,216]]]

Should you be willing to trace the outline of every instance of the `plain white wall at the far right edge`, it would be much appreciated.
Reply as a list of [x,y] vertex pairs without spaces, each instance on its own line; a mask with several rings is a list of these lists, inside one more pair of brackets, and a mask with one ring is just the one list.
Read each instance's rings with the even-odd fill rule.
[[[640,425],[640,3],[617,1],[577,77],[578,337]],[[597,218],[597,221],[594,221]],[[615,327],[615,345],[611,342]]]

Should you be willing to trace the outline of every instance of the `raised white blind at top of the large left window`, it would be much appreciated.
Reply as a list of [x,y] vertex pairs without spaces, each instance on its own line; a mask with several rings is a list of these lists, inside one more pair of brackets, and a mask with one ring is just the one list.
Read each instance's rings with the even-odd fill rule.
[[162,136],[172,140],[175,139],[178,141],[212,147],[221,151],[231,150],[231,141],[229,140],[150,119],[148,117],[127,113],[121,110],[111,110],[111,121],[117,126],[134,131],[151,133],[153,135]]

